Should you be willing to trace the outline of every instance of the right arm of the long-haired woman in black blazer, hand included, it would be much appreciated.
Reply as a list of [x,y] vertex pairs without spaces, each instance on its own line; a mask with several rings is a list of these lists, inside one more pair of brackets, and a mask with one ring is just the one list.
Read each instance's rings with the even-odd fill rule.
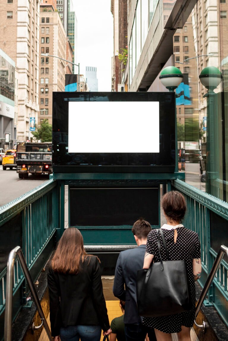
[[93,261],[93,276],[92,276],[92,297],[94,307],[97,312],[98,319],[103,329],[103,335],[109,335],[112,330],[110,329],[109,317],[106,308],[106,303],[103,295],[103,287],[101,281],[101,268],[97,257],[91,256],[90,261]]

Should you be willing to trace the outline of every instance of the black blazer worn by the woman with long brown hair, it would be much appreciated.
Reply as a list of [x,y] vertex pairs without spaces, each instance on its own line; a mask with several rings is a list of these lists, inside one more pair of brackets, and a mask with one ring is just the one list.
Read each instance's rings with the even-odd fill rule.
[[80,265],[82,271],[77,275],[57,273],[51,267],[48,271],[52,336],[59,335],[61,326],[110,328],[99,261],[89,256]]

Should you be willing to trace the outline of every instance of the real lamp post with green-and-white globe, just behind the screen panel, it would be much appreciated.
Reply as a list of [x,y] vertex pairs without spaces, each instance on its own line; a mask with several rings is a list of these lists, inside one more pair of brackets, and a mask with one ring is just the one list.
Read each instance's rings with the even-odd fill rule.
[[[161,83],[170,91],[174,90],[181,84],[183,79],[182,72],[175,66],[167,66],[160,73],[159,79]],[[177,158],[177,123],[176,123],[176,104],[175,104],[175,172],[178,172],[178,158]]]

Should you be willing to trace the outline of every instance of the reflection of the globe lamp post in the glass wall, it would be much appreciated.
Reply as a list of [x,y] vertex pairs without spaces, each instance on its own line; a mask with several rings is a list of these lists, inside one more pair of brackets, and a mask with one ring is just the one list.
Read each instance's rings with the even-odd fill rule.
[[203,97],[206,97],[206,193],[218,196],[213,186],[213,179],[218,177],[219,166],[219,129],[218,129],[218,93],[214,89],[220,84],[222,74],[215,66],[204,68],[199,76],[203,86],[208,89]]

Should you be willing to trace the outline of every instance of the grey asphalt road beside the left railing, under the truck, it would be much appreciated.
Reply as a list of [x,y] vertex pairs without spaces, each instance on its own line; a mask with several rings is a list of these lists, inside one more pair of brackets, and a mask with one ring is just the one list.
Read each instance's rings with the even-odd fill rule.
[[16,168],[3,170],[2,165],[0,165],[0,206],[31,191],[48,179],[49,175],[34,176],[31,174],[28,179],[19,179]]

